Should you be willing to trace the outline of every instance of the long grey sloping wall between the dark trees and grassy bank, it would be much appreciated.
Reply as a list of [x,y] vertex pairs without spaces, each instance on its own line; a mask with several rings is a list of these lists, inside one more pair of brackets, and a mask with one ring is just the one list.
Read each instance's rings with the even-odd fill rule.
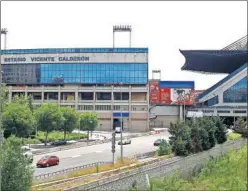
[[123,172],[108,178],[88,183],[77,188],[71,188],[67,191],[81,191],[81,190],[128,190],[134,181],[137,181],[141,189],[146,188],[146,174],[150,178],[162,178],[170,175],[172,172],[180,170],[184,174],[191,174],[196,169],[199,169],[212,157],[217,157],[226,154],[230,150],[238,150],[247,141],[240,139],[237,141],[227,142],[222,145],[201,152],[188,157],[174,157],[169,160],[162,160],[157,163],[146,165],[135,170]]

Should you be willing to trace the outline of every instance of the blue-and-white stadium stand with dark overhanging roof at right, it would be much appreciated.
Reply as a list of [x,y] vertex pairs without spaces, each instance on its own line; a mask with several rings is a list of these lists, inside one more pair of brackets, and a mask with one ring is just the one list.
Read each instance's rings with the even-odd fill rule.
[[185,64],[182,70],[227,74],[204,91],[198,104],[189,112],[202,112],[205,116],[221,116],[235,121],[247,117],[247,36],[222,50],[182,50]]

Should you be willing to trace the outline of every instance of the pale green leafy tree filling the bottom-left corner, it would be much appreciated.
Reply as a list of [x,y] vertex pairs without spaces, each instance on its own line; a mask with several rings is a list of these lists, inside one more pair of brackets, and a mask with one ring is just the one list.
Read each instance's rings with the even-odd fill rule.
[[2,191],[31,190],[34,169],[23,155],[21,141],[14,137],[4,141],[0,157]]

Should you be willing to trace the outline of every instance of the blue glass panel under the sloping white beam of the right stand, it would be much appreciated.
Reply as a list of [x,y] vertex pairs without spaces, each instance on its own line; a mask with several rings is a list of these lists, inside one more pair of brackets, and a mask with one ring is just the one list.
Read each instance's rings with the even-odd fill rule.
[[224,103],[246,103],[247,76],[223,92]]

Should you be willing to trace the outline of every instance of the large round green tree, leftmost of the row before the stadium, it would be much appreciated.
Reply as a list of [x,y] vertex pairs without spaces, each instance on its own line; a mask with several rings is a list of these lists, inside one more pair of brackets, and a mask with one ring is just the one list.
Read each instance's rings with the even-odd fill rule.
[[28,137],[34,130],[35,118],[27,105],[11,103],[3,112],[2,123],[17,137]]

